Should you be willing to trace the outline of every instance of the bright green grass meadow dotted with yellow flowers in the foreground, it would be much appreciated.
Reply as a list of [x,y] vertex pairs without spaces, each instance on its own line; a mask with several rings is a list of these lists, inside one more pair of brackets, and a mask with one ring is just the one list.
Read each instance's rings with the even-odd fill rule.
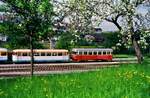
[[150,98],[149,60],[92,72],[0,79],[0,98]]

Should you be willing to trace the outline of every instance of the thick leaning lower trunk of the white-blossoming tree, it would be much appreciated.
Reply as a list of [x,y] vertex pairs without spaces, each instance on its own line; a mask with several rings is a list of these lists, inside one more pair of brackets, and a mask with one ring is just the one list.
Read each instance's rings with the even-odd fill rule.
[[141,49],[137,43],[137,41],[135,40],[135,38],[133,38],[132,40],[133,42],[133,46],[134,46],[134,49],[135,49],[135,53],[136,53],[136,56],[137,56],[137,59],[138,59],[138,63],[141,63],[142,60],[143,60],[143,56],[142,56],[142,53],[141,53]]

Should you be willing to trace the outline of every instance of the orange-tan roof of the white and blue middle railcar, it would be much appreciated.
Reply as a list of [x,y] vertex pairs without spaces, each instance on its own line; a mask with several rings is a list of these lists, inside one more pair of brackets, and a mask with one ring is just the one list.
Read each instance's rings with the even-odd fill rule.
[[[34,49],[34,52],[68,52],[65,49]],[[30,49],[16,49],[13,52],[31,52]]]

